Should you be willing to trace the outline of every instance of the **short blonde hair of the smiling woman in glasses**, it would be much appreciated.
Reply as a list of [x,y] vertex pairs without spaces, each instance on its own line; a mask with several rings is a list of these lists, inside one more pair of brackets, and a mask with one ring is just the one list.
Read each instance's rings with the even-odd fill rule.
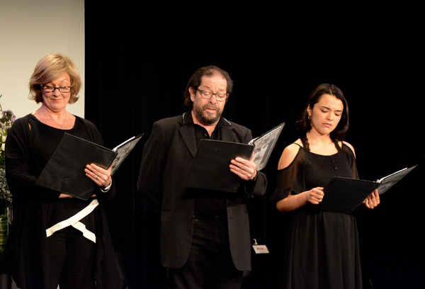
[[79,76],[77,67],[69,57],[60,55],[58,53],[50,53],[43,57],[35,66],[33,75],[30,77],[30,95],[28,98],[35,101],[36,103],[42,102],[42,84],[47,84],[50,81],[54,81],[67,72],[71,77],[71,96],[69,103],[75,103],[78,101],[78,93],[81,89],[81,78]]

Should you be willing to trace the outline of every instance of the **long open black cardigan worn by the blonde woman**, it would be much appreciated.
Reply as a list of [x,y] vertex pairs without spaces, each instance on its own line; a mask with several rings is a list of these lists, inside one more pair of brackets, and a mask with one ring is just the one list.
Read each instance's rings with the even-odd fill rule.
[[[35,186],[45,164],[47,157],[52,154],[58,132],[50,136],[46,130],[55,130],[41,123],[34,115],[26,115],[13,123],[6,140],[6,178],[13,196],[13,222],[9,232],[8,241],[1,258],[3,272],[11,273],[13,280],[20,288],[39,285],[38,288],[47,286],[48,266],[46,229],[49,217],[47,208],[84,208],[86,203],[78,199],[68,199],[65,203],[58,199],[60,193],[47,188]],[[60,130],[62,135],[68,132],[72,135],[84,137],[98,145],[103,145],[103,140],[96,126],[77,117],[72,130]],[[35,135],[45,132],[40,135]],[[60,134],[60,132],[59,132]],[[57,142],[46,145],[40,152],[35,147],[43,147],[35,142]],[[44,154],[44,157],[42,155]],[[46,160],[47,159],[47,160]],[[94,191],[98,200],[108,200],[115,195],[115,182],[108,193],[101,190]],[[88,200],[88,203],[91,199]],[[87,204],[88,204],[87,203]],[[60,211],[60,210],[58,210]],[[96,283],[97,288],[113,289],[122,288],[120,273],[113,252],[111,236],[109,234],[106,216],[102,205],[86,218],[91,219],[96,234]]]

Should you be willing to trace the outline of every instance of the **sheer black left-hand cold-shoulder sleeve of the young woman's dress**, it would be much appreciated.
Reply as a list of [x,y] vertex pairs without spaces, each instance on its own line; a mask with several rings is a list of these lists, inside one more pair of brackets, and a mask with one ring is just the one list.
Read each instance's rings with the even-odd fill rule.
[[270,200],[282,200],[293,194],[305,191],[305,151],[300,149],[293,162],[285,169],[278,170],[276,189]]

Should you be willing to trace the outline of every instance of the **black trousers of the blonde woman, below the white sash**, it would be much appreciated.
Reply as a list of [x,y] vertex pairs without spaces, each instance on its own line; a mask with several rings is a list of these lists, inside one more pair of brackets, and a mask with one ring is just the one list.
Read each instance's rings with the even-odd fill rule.
[[49,288],[93,289],[95,285],[94,242],[72,226],[47,238],[49,246]]

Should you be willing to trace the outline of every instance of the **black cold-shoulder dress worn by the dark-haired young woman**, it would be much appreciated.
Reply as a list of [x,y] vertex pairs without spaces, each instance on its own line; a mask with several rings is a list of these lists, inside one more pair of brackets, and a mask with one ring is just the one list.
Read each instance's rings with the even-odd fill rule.
[[[358,179],[352,150],[346,145],[337,148],[336,154],[324,156],[300,147],[293,162],[278,171],[271,199],[324,187],[334,176]],[[285,248],[283,288],[362,288],[354,215],[307,210],[306,206],[294,213]]]

